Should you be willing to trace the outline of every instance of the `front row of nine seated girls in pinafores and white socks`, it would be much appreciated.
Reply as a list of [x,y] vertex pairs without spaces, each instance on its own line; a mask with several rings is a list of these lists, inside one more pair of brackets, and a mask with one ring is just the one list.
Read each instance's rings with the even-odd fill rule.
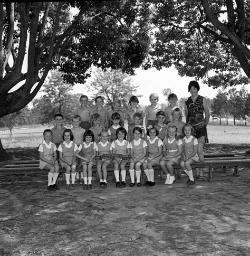
[[[76,165],[82,166],[84,179],[84,189],[92,188],[92,167],[97,165],[97,172],[100,179],[100,186],[107,187],[107,167],[113,163],[114,176],[116,177],[116,187],[126,186],[126,165],[129,164],[129,173],[131,178],[130,186],[134,186],[134,174],[136,174],[137,186],[140,187],[141,166],[147,176],[147,182],[144,186],[155,185],[153,166],[160,165],[165,172],[167,178],[165,184],[173,184],[175,182],[173,165],[181,165],[182,170],[188,175],[187,184],[194,185],[193,171],[191,164],[198,161],[197,139],[194,138],[194,128],[189,124],[180,125],[179,115],[175,115],[178,109],[172,111],[174,120],[167,126],[163,124],[165,120],[165,113],[163,111],[157,112],[157,124],[149,125],[146,129],[142,129],[138,122],[134,124],[130,141],[127,138],[127,130],[123,127],[115,129],[116,137],[112,136],[112,131],[100,130],[100,141],[95,142],[95,135],[91,128],[84,131],[83,142],[78,144],[76,138],[81,138],[80,133],[75,133],[80,124],[80,118],[74,116],[72,119],[73,128],[64,129],[62,133],[63,143],[56,145],[51,142],[53,139],[53,129],[45,130],[43,133],[44,141],[39,147],[40,153],[40,168],[49,170],[47,189],[53,191],[59,189],[55,182],[59,173],[59,163],[57,162],[56,150],[58,147],[59,160],[62,168],[66,170],[66,187],[69,189],[75,188]],[[60,114],[59,114],[60,115]],[[99,115],[99,114],[98,114]],[[116,116],[116,115],[115,115]],[[137,115],[134,115],[137,116]],[[59,116],[57,116],[59,117]],[[55,117],[55,119],[57,118]],[[178,117],[178,118],[177,118]],[[57,118],[59,119],[59,118]],[[111,118],[112,119],[112,118]],[[113,118],[114,119],[114,118]],[[57,120],[58,121],[58,120]],[[136,121],[136,118],[134,118]],[[175,123],[176,121],[176,123]],[[60,122],[57,122],[59,124]],[[115,122],[116,124],[116,122]],[[117,124],[119,122],[117,121]],[[177,124],[177,125],[176,125]],[[178,127],[179,125],[179,127]],[[162,129],[164,131],[162,132]],[[81,130],[81,129],[79,129]],[[183,139],[178,135],[185,135]],[[76,138],[74,138],[76,136]],[[97,132],[97,138],[99,134]],[[111,137],[113,139],[111,139]],[[105,153],[129,154],[130,160],[108,159],[100,162],[94,162],[95,155],[102,155]],[[78,161],[76,159],[78,158]],[[122,181],[120,183],[120,173]],[[134,172],[135,169],[135,172]],[[70,184],[71,175],[71,184]]]

